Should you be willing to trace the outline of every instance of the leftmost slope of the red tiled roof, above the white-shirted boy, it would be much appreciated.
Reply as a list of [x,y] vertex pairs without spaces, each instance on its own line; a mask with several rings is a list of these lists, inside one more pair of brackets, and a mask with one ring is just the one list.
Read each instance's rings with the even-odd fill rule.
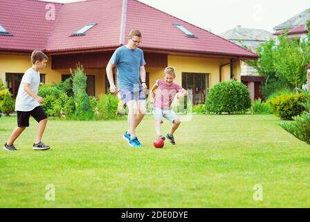
[[[50,2],[48,2],[50,3]],[[44,50],[55,20],[46,20],[46,5],[37,0],[1,0],[0,24],[12,36],[0,35],[0,50],[32,51]],[[53,3],[55,17],[60,12],[61,3]]]

